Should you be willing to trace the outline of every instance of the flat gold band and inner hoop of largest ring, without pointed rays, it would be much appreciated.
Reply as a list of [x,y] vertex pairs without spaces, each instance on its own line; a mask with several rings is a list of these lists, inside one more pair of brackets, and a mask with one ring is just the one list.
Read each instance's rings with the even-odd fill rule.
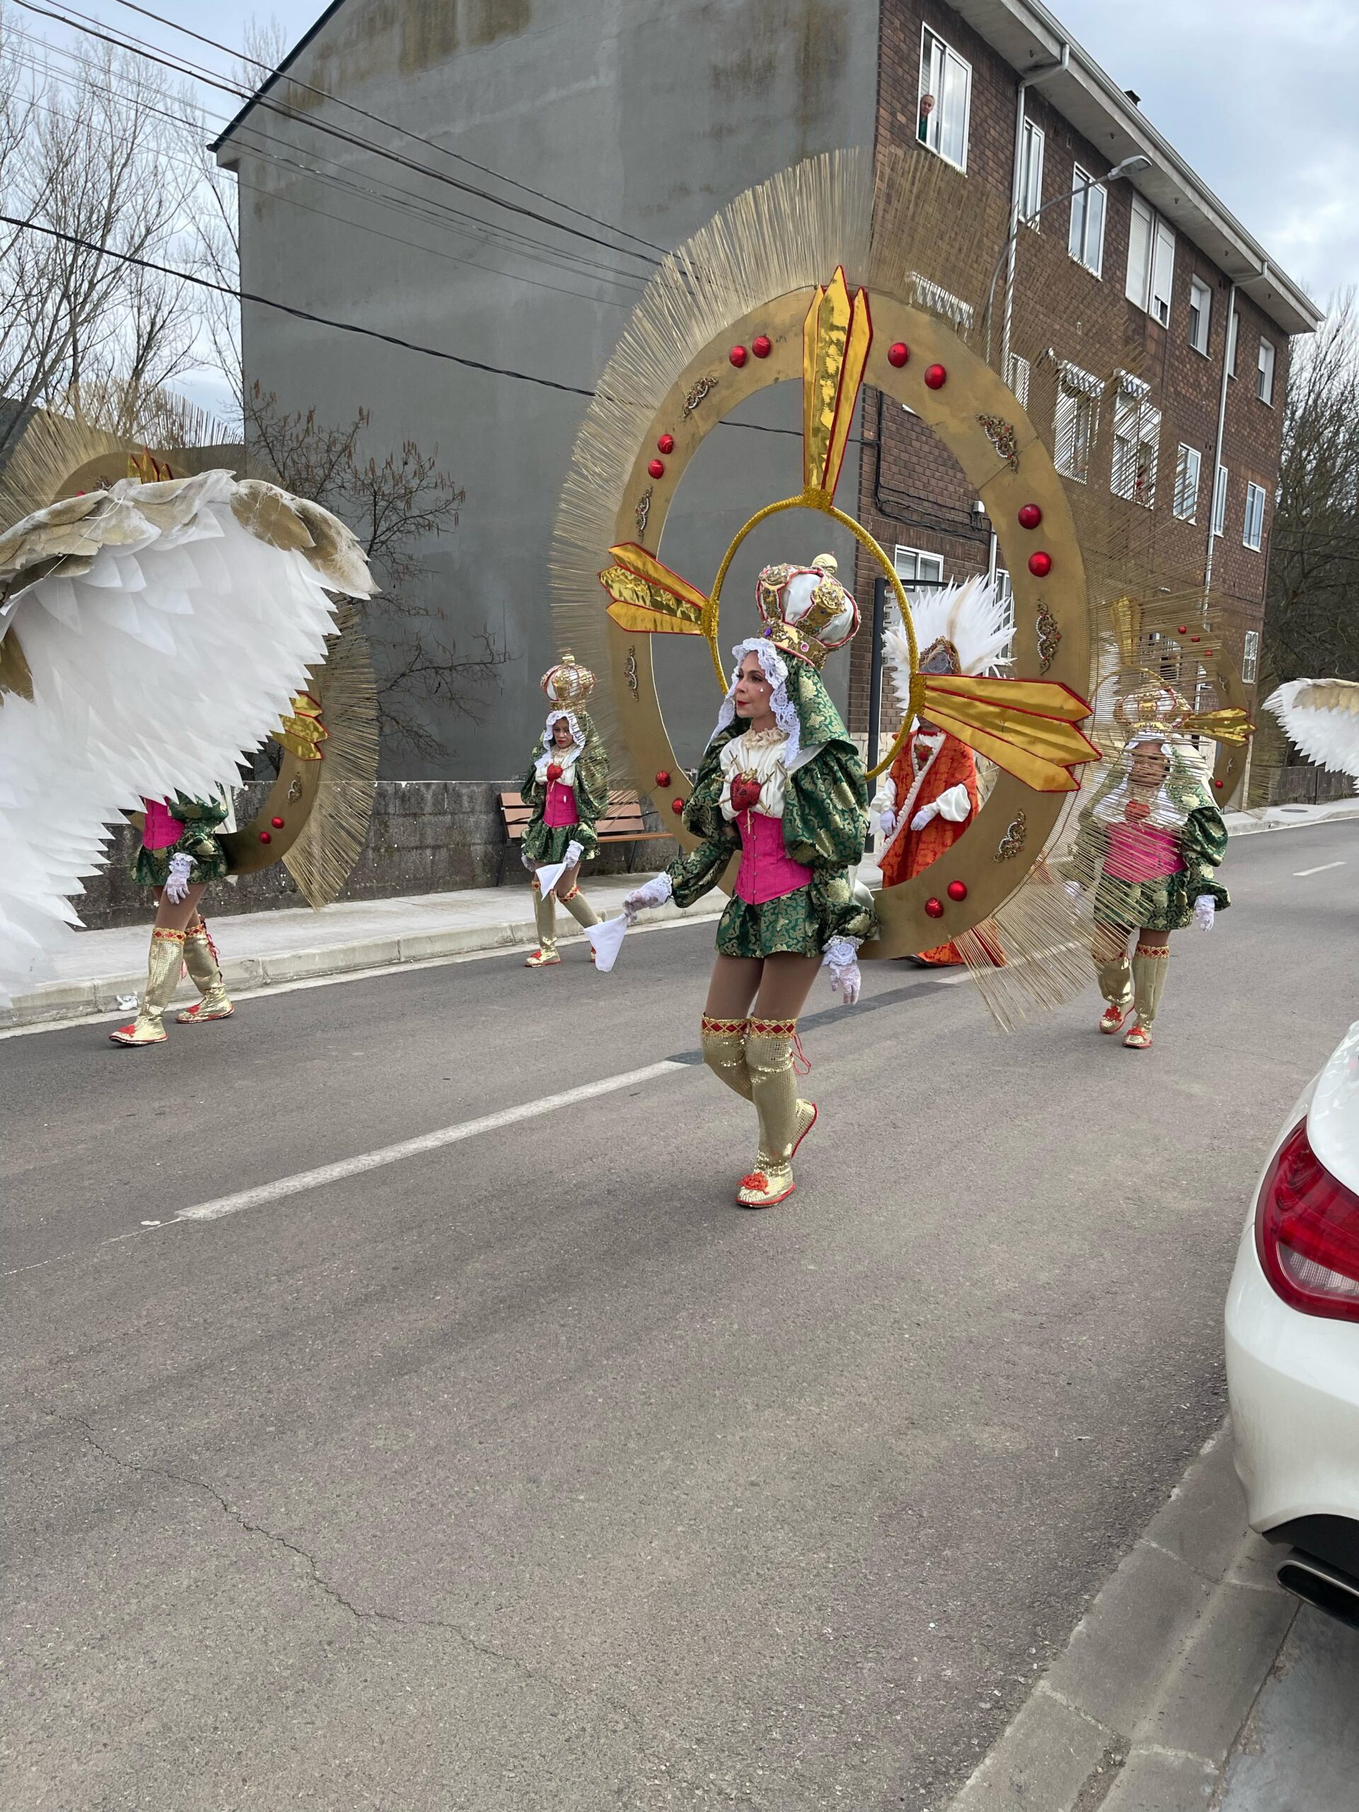
[[[830,284],[832,277],[826,272],[823,284]],[[805,395],[810,395],[808,321],[823,294],[815,286],[790,290],[730,321],[680,373],[638,437],[618,498],[616,544],[660,560],[669,509],[707,435],[770,384],[801,382]],[[732,362],[732,346],[759,346],[763,355]],[[944,321],[881,292],[872,295],[872,342],[857,382],[872,384],[913,410],[939,435],[962,467],[971,493],[986,506],[1015,600],[1011,672],[1026,680],[1056,681],[1084,694],[1089,683],[1089,629],[1076,525],[1053,458],[1018,399]],[[852,408],[853,397],[848,402]],[[656,448],[661,440],[665,457],[658,462]],[[1026,520],[1033,520],[1033,507],[1026,506],[1036,506],[1038,511],[1038,525],[1033,529],[1018,520],[1020,509]],[[859,522],[834,507],[826,489],[810,487],[801,496],[766,506],[741,529],[723,560],[718,583],[707,594],[712,609],[701,634],[712,651],[723,690],[727,674],[716,607],[727,571],[756,524],[794,507],[823,511],[868,549],[892,582],[902,622],[910,625],[910,602],[886,553]],[[1029,560],[1040,551],[1047,560],[1035,562],[1031,569]],[[600,605],[603,609],[607,598]],[[692,846],[694,839],[672,815],[674,801],[689,794],[689,781],[665,728],[651,643],[651,634],[611,620],[614,692],[634,770],[643,781],[656,776],[652,799],[663,823],[674,824],[680,841]],[[893,754],[895,748],[886,759]],[[930,949],[995,913],[1040,855],[1069,797],[1067,792],[1040,792],[1013,774],[1000,772],[982,810],[948,855],[922,875],[877,895],[882,933],[877,942],[864,946],[863,955],[902,957]],[[937,917],[940,906],[942,917]]]

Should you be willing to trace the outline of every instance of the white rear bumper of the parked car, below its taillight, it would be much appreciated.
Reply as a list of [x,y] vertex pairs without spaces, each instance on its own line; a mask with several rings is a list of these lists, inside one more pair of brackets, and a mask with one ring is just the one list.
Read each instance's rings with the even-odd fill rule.
[[1341,1518],[1359,1542],[1359,1323],[1281,1301],[1259,1268],[1254,1227],[1227,1294],[1227,1393],[1250,1526],[1303,1546],[1281,1526]]

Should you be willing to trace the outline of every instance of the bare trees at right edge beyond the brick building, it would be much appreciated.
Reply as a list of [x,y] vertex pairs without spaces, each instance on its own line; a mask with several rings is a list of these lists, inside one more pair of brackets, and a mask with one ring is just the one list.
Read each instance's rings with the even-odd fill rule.
[[1359,306],[1294,342],[1270,533],[1265,683],[1359,680]]

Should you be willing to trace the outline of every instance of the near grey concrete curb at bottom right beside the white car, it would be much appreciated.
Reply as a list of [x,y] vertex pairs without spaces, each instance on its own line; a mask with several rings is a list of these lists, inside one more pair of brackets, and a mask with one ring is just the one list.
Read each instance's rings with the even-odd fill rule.
[[1203,1812],[1296,1614],[1221,1428],[948,1812]]

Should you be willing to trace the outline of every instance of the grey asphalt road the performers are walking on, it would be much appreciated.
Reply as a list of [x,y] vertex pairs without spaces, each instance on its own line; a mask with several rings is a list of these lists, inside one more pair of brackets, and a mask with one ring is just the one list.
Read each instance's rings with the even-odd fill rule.
[[692,1053],[710,924],[2,1040],[4,1805],[939,1808],[1219,1422],[1263,1147],[1359,1011],[1359,824],[1227,881],[1145,1055],[1093,989],[1002,1036],[819,986],[768,1214],[690,1064],[143,1225]]

